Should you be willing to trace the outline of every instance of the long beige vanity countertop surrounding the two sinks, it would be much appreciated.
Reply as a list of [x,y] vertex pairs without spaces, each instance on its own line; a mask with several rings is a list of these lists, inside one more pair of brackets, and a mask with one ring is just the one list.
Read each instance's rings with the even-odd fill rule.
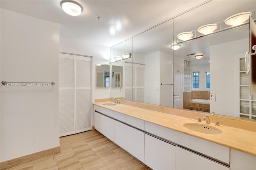
[[[130,105],[120,104],[107,106],[103,105],[104,103],[113,102],[96,102],[94,105],[256,156],[256,132],[254,131],[220,125],[217,128],[222,130],[221,134],[204,134],[189,130],[183,126],[185,123],[199,123],[195,119],[152,111],[149,109],[142,109]],[[205,122],[202,121],[200,124],[205,124]],[[216,128],[215,123],[211,123],[208,126]]]

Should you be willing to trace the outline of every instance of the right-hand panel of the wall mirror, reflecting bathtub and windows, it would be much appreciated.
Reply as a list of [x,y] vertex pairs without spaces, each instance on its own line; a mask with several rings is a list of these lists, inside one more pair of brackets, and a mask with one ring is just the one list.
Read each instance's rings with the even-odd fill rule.
[[[248,12],[255,8],[255,2],[237,3],[243,8],[232,6],[228,1],[211,1],[174,18],[174,39],[180,32],[197,30],[209,22],[220,22],[241,10]],[[231,8],[227,11],[226,6]],[[214,12],[207,12],[211,8],[215,9]],[[197,20],[200,13],[204,15]],[[253,16],[255,20],[255,13]],[[248,24],[179,44],[182,48],[174,51],[174,67],[184,71],[184,78],[180,95],[177,93],[180,83],[174,80],[174,107],[256,118],[254,113],[250,113],[250,105],[254,107],[256,103],[253,96],[250,99],[249,76],[245,74],[244,67],[244,55],[249,48]],[[196,55],[202,55],[202,58],[196,59]],[[180,100],[175,100],[176,96]]]

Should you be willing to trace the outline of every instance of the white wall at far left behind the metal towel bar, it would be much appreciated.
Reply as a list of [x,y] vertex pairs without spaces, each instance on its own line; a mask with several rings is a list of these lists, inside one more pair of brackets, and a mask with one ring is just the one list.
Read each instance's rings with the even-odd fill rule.
[[1,9],[1,81],[51,87],[1,87],[1,160],[60,146],[59,24]]

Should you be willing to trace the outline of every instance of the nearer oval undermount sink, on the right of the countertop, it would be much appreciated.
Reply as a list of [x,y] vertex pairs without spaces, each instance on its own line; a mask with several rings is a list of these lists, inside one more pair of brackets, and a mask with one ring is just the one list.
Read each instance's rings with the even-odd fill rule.
[[200,133],[206,133],[206,134],[221,134],[222,131],[218,128],[211,127],[208,125],[203,125],[199,123],[185,123],[183,125],[185,128],[188,128],[189,130],[193,130]]

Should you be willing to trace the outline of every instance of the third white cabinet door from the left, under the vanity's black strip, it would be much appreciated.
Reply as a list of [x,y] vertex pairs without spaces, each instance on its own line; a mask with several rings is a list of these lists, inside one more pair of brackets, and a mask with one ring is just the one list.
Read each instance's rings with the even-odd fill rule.
[[144,133],[127,126],[127,151],[144,162]]

